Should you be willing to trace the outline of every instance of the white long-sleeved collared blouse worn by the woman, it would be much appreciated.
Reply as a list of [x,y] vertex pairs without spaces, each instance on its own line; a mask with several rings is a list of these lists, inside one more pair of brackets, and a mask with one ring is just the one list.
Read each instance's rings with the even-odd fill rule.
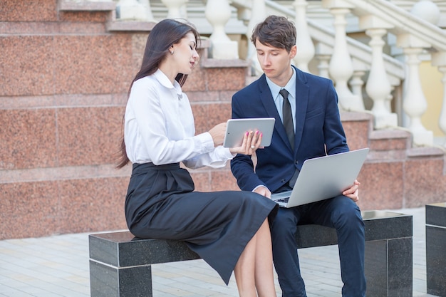
[[234,155],[214,147],[209,132],[195,135],[189,98],[159,69],[133,83],[125,108],[124,140],[132,163],[164,165],[176,162],[190,168],[224,167]]

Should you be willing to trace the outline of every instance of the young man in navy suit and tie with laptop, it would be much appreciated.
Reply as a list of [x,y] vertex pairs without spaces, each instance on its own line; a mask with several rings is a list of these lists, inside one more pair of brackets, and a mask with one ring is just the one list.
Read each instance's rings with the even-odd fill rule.
[[[251,41],[264,74],[234,94],[232,118],[274,117],[276,123],[271,145],[256,150],[255,167],[251,157],[237,155],[231,162],[231,169],[241,189],[271,197],[271,192],[294,187],[304,160],[346,152],[348,145],[331,80],[291,66],[296,56],[294,24],[281,16],[269,16],[254,28]],[[291,112],[282,109],[287,101]],[[290,135],[286,132],[287,123],[291,123]],[[282,296],[306,296],[294,239],[297,224],[336,228],[342,296],[365,296],[365,239],[361,212],[356,204],[358,187],[359,182],[355,181],[338,197],[279,209],[271,234]]]

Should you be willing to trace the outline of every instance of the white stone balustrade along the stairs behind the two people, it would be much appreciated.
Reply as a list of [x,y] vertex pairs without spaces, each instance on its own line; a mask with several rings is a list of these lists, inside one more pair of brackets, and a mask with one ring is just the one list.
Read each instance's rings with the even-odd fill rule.
[[[141,11],[147,9],[150,11],[151,2],[159,1],[120,0],[117,11],[121,11],[123,19],[124,16],[125,18],[134,16],[135,19],[147,20],[147,17],[152,18],[152,14],[142,14]],[[167,17],[187,18],[187,5],[190,5],[188,1],[161,2],[166,6]],[[427,130],[421,122],[421,117],[427,110],[427,102],[420,83],[419,66],[420,56],[429,51],[432,52],[432,66],[437,66],[442,73],[445,71],[446,59],[433,57],[446,55],[446,43],[442,42],[446,38],[445,31],[435,24],[430,24],[439,19],[437,14],[440,11],[439,9],[435,11],[435,4],[431,1],[420,1],[409,13],[385,0],[373,2],[323,0],[321,6],[333,16],[334,28],[329,32],[333,36],[333,42],[323,42],[315,36],[311,22],[308,22],[306,0],[280,2],[281,4],[270,0],[206,1],[205,7],[202,8],[203,14],[213,29],[210,36],[212,44],[209,49],[210,56],[217,59],[239,58],[237,41],[232,41],[224,31],[229,19],[234,18],[232,15],[234,9],[237,10],[237,17],[247,25],[247,30],[241,29],[239,33],[246,35],[248,39],[254,24],[266,14],[285,14],[294,19],[299,31],[299,38],[296,41],[299,47],[299,53],[295,58],[296,65],[304,71],[333,79],[342,110],[366,110],[363,99],[365,93],[372,101],[369,109],[375,117],[376,129],[402,125],[413,134],[413,145],[434,144],[433,132]],[[146,10],[140,9],[141,6],[145,6]],[[294,8],[294,11],[291,8]],[[348,21],[354,18],[358,19],[358,28],[370,36],[367,55],[369,58],[365,65],[364,61],[358,61],[358,55],[354,56],[353,52],[361,52],[361,49],[358,49],[357,44],[349,42],[346,32]],[[389,60],[393,58],[386,56],[383,51],[385,46],[389,46],[386,36],[392,34],[397,40],[394,46],[400,48],[403,53],[401,61],[390,62]],[[253,48],[248,44],[248,54],[244,58],[251,61],[252,73],[259,75],[261,71],[256,65],[253,52]],[[316,68],[311,68],[309,66],[311,63],[316,63]],[[399,76],[395,74],[395,70],[389,69],[395,67],[398,68]],[[363,78],[367,81],[362,81]],[[443,80],[442,85],[445,85]],[[358,87],[363,88],[364,92],[353,91]],[[438,96],[435,100],[442,101],[443,105],[446,105],[446,95],[441,96],[439,92]],[[445,113],[442,112],[438,119],[442,132],[446,132]]]

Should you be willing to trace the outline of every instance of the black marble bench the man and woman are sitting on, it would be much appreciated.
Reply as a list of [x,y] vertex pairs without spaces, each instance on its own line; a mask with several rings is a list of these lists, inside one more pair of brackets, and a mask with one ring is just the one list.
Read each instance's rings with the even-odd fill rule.
[[[412,216],[363,212],[367,296],[412,297]],[[337,244],[336,230],[299,226],[299,249]],[[199,259],[182,241],[136,239],[130,232],[91,234],[91,297],[152,296],[152,264]]]

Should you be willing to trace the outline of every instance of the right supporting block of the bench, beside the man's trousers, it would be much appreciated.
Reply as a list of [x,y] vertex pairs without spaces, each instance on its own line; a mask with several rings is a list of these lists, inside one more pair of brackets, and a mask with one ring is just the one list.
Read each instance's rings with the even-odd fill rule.
[[412,254],[412,237],[366,241],[366,296],[412,297]]

